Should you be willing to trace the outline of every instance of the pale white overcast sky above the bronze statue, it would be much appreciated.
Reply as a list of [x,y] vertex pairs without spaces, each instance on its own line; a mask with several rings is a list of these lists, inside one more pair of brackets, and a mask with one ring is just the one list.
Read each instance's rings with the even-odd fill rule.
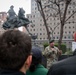
[[23,7],[25,14],[31,13],[31,0],[0,0],[0,12],[7,12],[11,5],[14,5],[16,14],[20,7]]

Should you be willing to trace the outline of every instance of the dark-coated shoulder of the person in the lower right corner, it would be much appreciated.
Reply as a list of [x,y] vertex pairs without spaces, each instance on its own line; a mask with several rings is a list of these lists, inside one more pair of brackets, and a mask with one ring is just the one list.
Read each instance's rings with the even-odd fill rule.
[[76,75],[76,56],[53,64],[47,75]]

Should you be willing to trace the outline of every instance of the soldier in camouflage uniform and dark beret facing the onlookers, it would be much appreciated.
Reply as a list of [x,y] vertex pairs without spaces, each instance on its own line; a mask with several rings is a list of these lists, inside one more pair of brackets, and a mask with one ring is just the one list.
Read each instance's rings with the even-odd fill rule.
[[54,46],[54,40],[49,42],[49,46],[47,46],[43,52],[43,55],[47,58],[47,68],[58,61],[58,56],[61,55],[61,51]]

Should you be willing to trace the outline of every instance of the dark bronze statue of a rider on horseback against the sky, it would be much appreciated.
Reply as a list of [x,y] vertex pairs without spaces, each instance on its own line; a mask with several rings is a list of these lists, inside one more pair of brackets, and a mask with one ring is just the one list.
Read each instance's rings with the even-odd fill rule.
[[30,21],[25,18],[25,11],[23,8],[19,9],[18,16],[14,11],[14,6],[11,6],[7,13],[7,21],[3,23],[4,29],[14,29],[21,26],[24,26],[27,29],[27,25],[30,23]]

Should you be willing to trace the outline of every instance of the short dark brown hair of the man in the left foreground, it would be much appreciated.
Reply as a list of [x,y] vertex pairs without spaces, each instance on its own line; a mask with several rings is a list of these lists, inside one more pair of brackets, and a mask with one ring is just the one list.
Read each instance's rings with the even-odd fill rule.
[[31,38],[19,31],[8,30],[0,36],[0,68],[19,70],[31,52]]

